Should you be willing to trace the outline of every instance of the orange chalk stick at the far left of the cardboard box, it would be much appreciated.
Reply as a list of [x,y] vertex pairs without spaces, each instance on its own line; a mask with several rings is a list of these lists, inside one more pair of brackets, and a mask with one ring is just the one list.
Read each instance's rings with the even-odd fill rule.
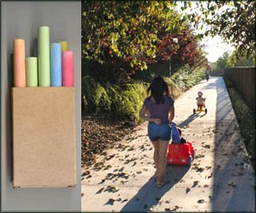
[[13,68],[14,86],[26,86],[25,79],[25,42],[24,39],[17,38],[13,42]]

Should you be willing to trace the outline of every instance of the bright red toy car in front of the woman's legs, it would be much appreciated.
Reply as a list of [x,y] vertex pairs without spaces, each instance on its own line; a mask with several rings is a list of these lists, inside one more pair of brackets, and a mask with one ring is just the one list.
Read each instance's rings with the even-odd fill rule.
[[172,165],[190,166],[196,154],[191,142],[170,143],[168,148],[167,163]]

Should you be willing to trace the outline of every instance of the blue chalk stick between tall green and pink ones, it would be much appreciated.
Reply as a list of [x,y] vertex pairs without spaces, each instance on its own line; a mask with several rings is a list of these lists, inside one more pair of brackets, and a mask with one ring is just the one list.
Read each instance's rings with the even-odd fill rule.
[[62,86],[61,45],[51,43],[51,86]]

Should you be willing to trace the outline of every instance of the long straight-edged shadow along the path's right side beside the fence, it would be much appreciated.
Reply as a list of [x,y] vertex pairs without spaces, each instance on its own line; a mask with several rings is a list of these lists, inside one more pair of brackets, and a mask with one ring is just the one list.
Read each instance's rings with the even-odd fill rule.
[[255,205],[253,169],[239,137],[225,83],[218,78],[214,84],[217,87],[217,111],[211,210],[252,211]]

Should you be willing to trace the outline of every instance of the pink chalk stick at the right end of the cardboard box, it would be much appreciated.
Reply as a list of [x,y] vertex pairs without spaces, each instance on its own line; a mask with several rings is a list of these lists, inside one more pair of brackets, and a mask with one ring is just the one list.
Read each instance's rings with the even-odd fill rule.
[[62,86],[73,86],[73,52],[65,51],[62,55]]

